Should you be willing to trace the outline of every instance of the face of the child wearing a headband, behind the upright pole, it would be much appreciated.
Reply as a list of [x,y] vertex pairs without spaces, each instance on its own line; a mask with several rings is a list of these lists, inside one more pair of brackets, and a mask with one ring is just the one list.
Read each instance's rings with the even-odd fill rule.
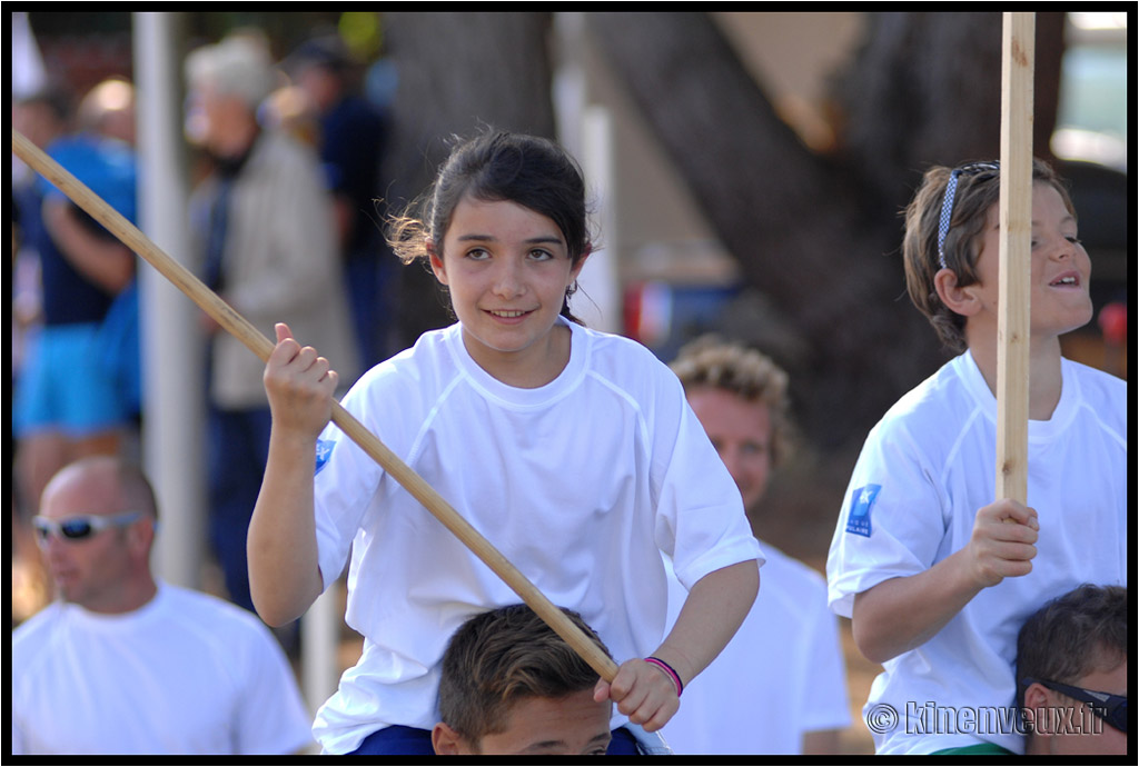
[[[989,220],[977,255],[981,311],[969,317],[974,328],[998,321],[1000,266],[1000,209],[989,209]],[[1032,187],[1032,336],[1056,337],[1091,321],[1089,295],[1091,259],[1077,239],[1075,218],[1059,192],[1048,183]]]

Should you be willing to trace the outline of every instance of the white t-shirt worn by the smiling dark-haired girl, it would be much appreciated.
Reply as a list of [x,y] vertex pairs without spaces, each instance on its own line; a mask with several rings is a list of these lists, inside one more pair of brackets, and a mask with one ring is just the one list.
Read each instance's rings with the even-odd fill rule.
[[[568,327],[570,362],[543,387],[487,374],[454,324],[366,373],[344,406],[622,662],[663,637],[662,551],[688,586],[760,552],[677,377],[629,339]],[[313,728],[343,753],[387,725],[434,726],[451,635],[521,600],[337,427],[318,451],[320,569],[333,583],[351,546],[346,619],[364,636]]]

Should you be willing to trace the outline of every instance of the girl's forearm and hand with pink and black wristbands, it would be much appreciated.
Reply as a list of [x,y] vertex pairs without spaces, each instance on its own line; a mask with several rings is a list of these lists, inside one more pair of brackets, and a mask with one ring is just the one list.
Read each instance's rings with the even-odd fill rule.
[[[693,586],[664,643],[653,653],[688,684],[724,649],[747,617],[760,588],[755,560],[707,574]],[[612,698],[633,724],[654,732],[667,724],[680,702],[675,684],[659,668],[634,658],[613,683],[598,682],[595,699]]]

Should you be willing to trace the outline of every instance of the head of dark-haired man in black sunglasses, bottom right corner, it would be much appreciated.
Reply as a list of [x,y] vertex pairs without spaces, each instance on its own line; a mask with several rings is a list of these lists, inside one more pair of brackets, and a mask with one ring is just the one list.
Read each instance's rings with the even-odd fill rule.
[[1034,754],[1128,752],[1128,589],[1084,584],[1017,638],[1017,692]]

